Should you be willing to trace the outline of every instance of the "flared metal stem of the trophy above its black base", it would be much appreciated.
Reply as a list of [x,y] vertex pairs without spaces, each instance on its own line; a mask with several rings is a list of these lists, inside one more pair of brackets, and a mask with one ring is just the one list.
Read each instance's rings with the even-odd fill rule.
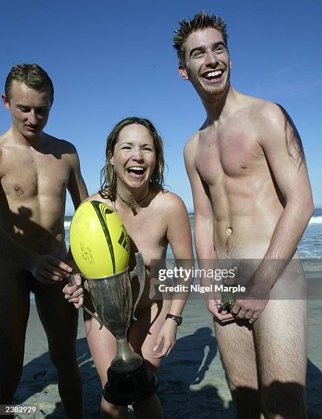
[[142,366],[143,359],[133,352],[126,338],[116,340],[116,357],[111,362],[111,370],[116,373],[131,372]]

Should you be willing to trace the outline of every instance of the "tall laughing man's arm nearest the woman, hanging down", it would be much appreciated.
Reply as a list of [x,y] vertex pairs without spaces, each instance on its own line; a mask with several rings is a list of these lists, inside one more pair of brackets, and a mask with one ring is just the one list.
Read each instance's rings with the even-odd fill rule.
[[[213,207],[211,203],[211,196],[206,182],[200,177],[195,163],[196,155],[196,137],[191,138],[185,147],[185,166],[187,175],[189,177],[192,196],[193,209],[195,216],[194,240],[196,245],[196,252],[198,257],[198,266],[200,270],[215,268],[215,248],[213,244]],[[213,284],[207,277],[201,277],[200,283],[202,286]],[[206,292],[206,305],[209,313],[215,317],[215,320],[225,322],[232,320],[233,316],[230,313],[218,311],[217,305],[221,298],[213,292]]]

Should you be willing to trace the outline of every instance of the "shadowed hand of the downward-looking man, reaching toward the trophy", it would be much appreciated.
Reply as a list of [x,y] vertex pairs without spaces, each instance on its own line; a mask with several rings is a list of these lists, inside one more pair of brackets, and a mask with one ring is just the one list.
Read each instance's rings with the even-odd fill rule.
[[72,268],[51,255],[35,255],[29,269],[41,283],[57,283],[68,279]]

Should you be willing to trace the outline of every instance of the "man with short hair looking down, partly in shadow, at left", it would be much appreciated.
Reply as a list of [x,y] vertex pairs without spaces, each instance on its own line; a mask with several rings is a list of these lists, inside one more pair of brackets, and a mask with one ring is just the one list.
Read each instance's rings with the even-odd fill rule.
[[81,418],[77,310],[62,295],[66,188],[75,208],[88,196],[77,151],[42,130],[53,84],[36,64],[10,71],[2,95],[12,126],[0,136],[0,404],[13,404],[23,368],[29,293],[35,293],[68,418]]

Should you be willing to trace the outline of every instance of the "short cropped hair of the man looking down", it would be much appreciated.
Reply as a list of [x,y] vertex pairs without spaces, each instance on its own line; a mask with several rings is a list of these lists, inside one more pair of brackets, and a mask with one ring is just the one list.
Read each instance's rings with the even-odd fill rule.
[[10,73],[5,79],[5,96],[8,101],[11,99],[12,81],[25,83],[25,85],[38,92],[45,92],[49,90],[51,95],[51,103],[53,103],[53,82],[49,75],[38,64],[16,64],[10,70]]

